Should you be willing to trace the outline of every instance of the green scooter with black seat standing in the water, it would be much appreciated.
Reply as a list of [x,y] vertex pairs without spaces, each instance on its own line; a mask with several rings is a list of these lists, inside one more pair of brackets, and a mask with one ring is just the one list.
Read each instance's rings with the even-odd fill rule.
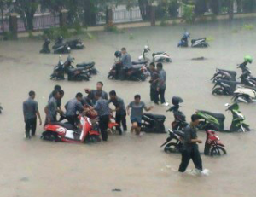
[[200,125],[198,125],[198,128],[201,130],[204,130],[204,127],[210,123],[214,125],[218,131],[223,132],[245,132],[249,131],[249,125],[244,123],[245,117],[239,110],[238,103],[234,103],[232,105],[226,104],[226,111],[230,111],[232,113],[233,119],[232,123],[230,125],[230,130],[224,129],[224,120],[225,116],[222,113],[211,113],[203,110],[196,111],[196,114],[201,117],[201,119],[204,119],[204,121],[201,121]]

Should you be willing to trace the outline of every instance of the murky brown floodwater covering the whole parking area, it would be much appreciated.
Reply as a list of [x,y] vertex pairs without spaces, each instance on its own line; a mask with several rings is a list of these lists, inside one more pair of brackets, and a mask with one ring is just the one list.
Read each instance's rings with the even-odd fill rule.
[[[203,165],[211,171],[209,176],[195,177],[177,172],[179,154],[166,154],[160,144],[166,135],[144,134],[134,136],[110,136],[108,142],[99,144],[67,144],[43,142],[39,139],[42,126],[38,126],[37,137],[23,139],[24,122],[22,101],[29,90],[35,90],[39,110],[44,119],[44,106],[49,92],[55,84],[65,90],[63,104],[84,88],[95,88],[97,81],[104,82],[104,90],[116,90],[128,104],[136,93],[149,103],[148,82],[119,82],[107,79],[113,64],[113,53],[125,46],[133,59],[137,59],[143,46],[152,51],[166,50],[173,62],[166,64],[168,74],[166,98],[183,97],[183,113],[187,119],[196,109],[205,109],[226,116],[225,127],[229,129],[231,114],[225,112],[224,104],[230,96],[212,96],[209,81],[216,67],[241,71],[236,64],[243,55],[256,59],[255,29],[248,31],[244,24],[255,24],[255,20],[235,20],[206,23],[195,26],[143,27],[125,30],[124,33],[94,33],[96,39],[84,39],[86,49],[73,51],[75,62],[96,61],[100,74],[90,82],[55,82],[49,80],[58,55],[40,55],[42,42],[19,40],[0,42],[0,101],[4,111],[0,116],[1,162],[0,196],[44,197],[44,196],[255,196],[255,131],[242,134],[218,136],[224,142],[227,156],[210,158],[202,155]],[[256,26],[255,26],[256,27]],[[177,49],[177,42],[184,29],[191,38],[210,37],[209,49]],[[134,39],[129,39],[132,33]],[[204,56],[205,61],[191,61]],[[64,61],[67,55],[62,56]],[[256,75],[255,63],[249,65]],[[255,104],[241,104],[241,112],[247,123],[255,129]],[[165,114],[166,127],[172,122],[172,113],[166,107],[154,107],[153,113]],[[128,121],[129,122],[129,121]],[[129,123],[130,125],[130,123]],[[199,132],[204,140],[206,135]],[[200,145],[203,151],[203,145]],[[189,169],[194,169],[192,162]],[[120,192],[112,189],[119,188]]]

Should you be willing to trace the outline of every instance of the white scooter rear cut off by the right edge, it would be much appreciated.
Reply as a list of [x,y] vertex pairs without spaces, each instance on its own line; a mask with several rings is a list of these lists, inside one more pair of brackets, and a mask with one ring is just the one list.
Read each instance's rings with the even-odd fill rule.
[[241,87],[234,92],[234,101],[250,103],[256,101],[256,90],[253,88]]

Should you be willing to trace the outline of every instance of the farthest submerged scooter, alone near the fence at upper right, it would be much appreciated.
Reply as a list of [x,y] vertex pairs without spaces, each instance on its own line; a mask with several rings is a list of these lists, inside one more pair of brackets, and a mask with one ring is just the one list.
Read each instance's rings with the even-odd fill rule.
[[[177,44],[177,47],[189,47],[189,32],[185,32],[180,42]],[[191,40],[192,48],[207,48],[209,43],[207,43],[207,38],[199,38]]]

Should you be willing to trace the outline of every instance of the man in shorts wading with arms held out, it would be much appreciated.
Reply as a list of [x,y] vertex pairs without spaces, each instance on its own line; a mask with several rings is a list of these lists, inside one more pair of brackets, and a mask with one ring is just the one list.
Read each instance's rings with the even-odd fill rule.
[[127,114],[130,115],[131,108],[131,132],[135,130],[136,135],[140,135],[141,126],[142,126],[142,118],[143,118],[143,110],[147,112],[151,110],[153,107],[147,107],[143,101],[141,101],[141,96],[134,96],[134,101],[127,106]]

